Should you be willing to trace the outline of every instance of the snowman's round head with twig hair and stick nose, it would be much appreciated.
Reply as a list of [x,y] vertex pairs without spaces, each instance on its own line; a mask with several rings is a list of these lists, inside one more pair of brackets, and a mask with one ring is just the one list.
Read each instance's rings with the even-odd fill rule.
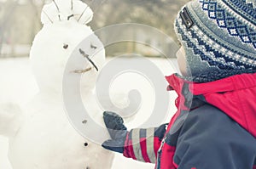
[[[73,13],[73,19],[68,19],[66,16],[71,14],[69,10],[71,5],[75,12],[78,11],[75,8],[78,4],[85,5],[85,11],[80,10],[82,15]],[[50,13],[53,12],[53,8],[58,8],[58,12]],[[87,13],[87,10],[91,11],[85,3],[77,0],[55,0],[44,6],[41,19],[44,26],[36,35],[30,52],[32,71],[41,91],[61,93],[64,70],[68,59],[74,54],[78,62],[72,63],[73,70],[68,73],[73,76],[83,75],[81,87],[86,89],[95,87],[96,76],[105,62],[105,51],[100,47],[102,43],[94,35],[90,26],[80,23],[92,17],[92,12]],[[90,16],[84,14],[90,14]],[[77,20],[78,18],[80,20]]]

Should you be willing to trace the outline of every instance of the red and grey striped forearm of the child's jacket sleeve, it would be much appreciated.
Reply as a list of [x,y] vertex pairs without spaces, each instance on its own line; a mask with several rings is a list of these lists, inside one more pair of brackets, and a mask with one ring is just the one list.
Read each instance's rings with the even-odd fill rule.
[[132,129],[126,136],[123,155],[137,161],[155,163],[156,153],[165,133],[166,124],[147,129]]

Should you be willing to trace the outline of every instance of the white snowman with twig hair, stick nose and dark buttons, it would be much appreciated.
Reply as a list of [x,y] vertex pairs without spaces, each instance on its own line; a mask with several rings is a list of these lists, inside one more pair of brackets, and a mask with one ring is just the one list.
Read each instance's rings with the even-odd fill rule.
[[[93,34],[86,25],[92,15],[90,7],[79,0],[55,0],[44,5],[41,15],[44,26],[35,37],[30,53],[39,92],[22,111],[19,107],[9,111],[13,107],[9,105],[6,107],[9,114],[2,112],[0,118],[0,134],[9,137],[9,161],[14,169],[111,168],[113,153],[73,128],[62,100],[67,60],[77,51],[79,43]],[[98,72],[105,63],[105,51],[95,54],[101,42],[95,35],[92,37],[77,51],[78,61],[84,62],[84,66],[74,64],[69,73],[81,76],[82,93],[74,94],[80,94],[90,103],[86,109],[92,119],[102,124],[99,119],[102,111],[90,99]]]

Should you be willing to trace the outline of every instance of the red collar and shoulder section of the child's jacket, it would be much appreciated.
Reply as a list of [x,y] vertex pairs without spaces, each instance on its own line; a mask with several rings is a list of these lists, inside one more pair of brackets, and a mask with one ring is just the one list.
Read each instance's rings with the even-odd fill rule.
[[256,137],[256,73],[206,83],[189,82],[177,74],[166,76],[166,80],[168,89],[177,92],[177,109],[212,104]]

